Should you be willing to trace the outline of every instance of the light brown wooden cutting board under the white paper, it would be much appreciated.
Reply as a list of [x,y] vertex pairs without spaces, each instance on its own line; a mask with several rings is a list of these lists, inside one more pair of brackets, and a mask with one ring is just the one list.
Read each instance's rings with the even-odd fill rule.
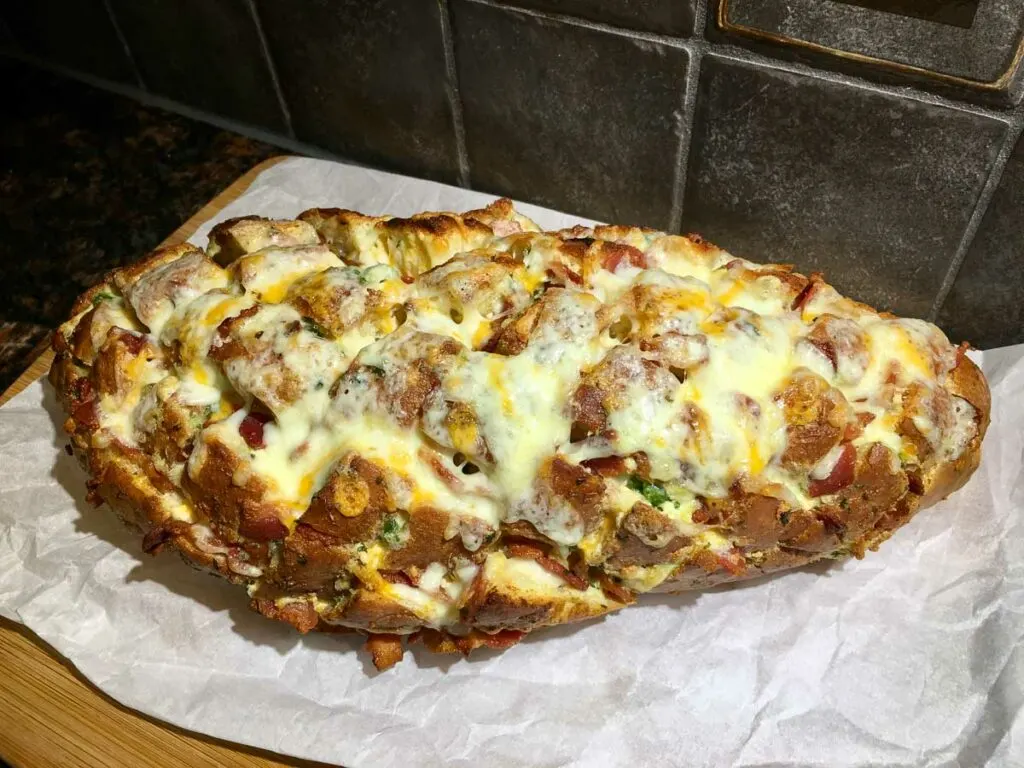
[[[186,241],[244,193],[271,158],[240,176],[161,246]],[[4,392],[0,406],[46,375],[48,342]],[[160,723],[117,703],[25,627],[0,618],[0,758],[14,768],[61,766],[317,766],[261,750],[232,745]]]

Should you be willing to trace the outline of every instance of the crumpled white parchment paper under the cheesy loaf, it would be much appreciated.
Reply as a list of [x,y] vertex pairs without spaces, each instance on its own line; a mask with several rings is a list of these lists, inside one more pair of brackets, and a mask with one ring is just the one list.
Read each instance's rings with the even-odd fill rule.
[[[217,218],[488,200],[290,160]],[[0,613],[129,707],[352,768],[1024,765],[1024,346],[978,357],[993,394],[981,468],[866,559],[642,599],[469,660],[420,648],[382,674],[355,638],[301,637],[243,590],[143,555],[85,503],[37,383],[0,409]]]

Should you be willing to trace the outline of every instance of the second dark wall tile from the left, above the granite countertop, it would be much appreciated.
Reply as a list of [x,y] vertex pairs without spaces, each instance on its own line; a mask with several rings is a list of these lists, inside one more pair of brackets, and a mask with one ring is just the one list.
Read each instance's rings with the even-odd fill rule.
[[146,88],[285,131],[247,0],[111,0]]

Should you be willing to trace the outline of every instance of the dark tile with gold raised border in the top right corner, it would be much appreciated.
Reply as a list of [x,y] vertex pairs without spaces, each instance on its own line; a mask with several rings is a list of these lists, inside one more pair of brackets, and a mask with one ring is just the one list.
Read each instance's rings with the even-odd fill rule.
[[[950,95],[1019,98],[1024,0],[715,0],[709,33]],[[713,9],[714,10],[714,9]]]

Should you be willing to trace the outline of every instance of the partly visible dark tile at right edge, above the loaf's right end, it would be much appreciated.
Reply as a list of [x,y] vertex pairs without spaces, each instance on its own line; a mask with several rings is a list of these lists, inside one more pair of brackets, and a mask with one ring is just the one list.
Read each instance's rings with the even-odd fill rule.
[[1007,164],[939,325],[989,348],[1024,342],[1024,140]]

